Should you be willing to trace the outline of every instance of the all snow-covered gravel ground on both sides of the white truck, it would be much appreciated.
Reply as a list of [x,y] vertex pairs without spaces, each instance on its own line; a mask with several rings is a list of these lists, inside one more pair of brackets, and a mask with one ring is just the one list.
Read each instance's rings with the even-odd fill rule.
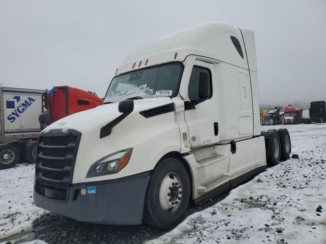
[[[299,159],[268,168],[147,243],[326,243],[326,124],[262,127],[278,128],[289,130]],[[36,238],[32,222],[46,212],[33,203],[33,181],[34,165],[0,170],[0,243]]]

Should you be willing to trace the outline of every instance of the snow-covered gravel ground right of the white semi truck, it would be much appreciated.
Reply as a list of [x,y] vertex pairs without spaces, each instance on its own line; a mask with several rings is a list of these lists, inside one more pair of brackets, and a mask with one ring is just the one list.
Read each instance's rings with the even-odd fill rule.
[[289,130],[299,159],[268,168],[148,243],[326,243],[326,124],[262,130],[278,128]]

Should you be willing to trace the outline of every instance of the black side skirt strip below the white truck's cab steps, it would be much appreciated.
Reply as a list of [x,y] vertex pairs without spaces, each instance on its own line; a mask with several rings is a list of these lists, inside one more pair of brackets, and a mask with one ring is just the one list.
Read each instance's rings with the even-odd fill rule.
[[251,170],[251,171],[249,171],[247,173],[244,173],[244,174],[236,177],[235,179],[232,179],[229,182],[224,183],[223,185],[221,185],[219,187],[216,187],[215,189],[211,190],[210,192],[196,198],[194,200],[194,202],[195,202],[196,205],[202,204],[202,203],[208,201],[209,199],[211,199],[211,198],[225,192],[226,190],[231,189],[231,188],[239,185],[244,180],[247,180],[252,176],[255,176],[255,175],[257,175],[257,174],[259,174],[261,172],[264,172],[265,170],[266,170],[266,166],[261,166],[261,167],[255,168],[255,169],[253,169],[253,170]]

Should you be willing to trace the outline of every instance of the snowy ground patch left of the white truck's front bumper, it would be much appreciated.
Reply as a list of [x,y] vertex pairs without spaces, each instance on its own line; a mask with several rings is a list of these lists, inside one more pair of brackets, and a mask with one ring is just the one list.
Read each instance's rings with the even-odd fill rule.
[[34,238],[32,222],[45,212],[34,205],[34,172],[32,164],[0,170],[0,242]]

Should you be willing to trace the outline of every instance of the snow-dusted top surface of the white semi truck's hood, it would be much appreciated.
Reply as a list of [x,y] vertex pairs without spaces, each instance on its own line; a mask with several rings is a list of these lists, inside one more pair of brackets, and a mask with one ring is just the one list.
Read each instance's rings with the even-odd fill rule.
[[[166,105],[171,102],[172,99],[169,97],[134,100],[133,111],[124,119],[126,120],[124,124],[126,122],[129,124],[146,119],[139,114],[140,111]],[[69,115],[49,125],[43,132],[48,132],[53,129],[74,129],[83,133],[86,128],[102,128],[122,114],[118,111],[118,104],[119,103],[103,104],[90,110]]]

